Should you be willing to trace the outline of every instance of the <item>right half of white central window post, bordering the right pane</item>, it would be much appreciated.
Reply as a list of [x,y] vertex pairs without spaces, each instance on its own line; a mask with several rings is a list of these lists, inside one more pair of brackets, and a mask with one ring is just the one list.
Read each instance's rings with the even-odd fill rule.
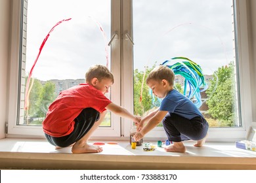
[[[121,1],[121,105],[133,113],[132,0]],[[121,120],[121,133],[129,137],[131,120]]]

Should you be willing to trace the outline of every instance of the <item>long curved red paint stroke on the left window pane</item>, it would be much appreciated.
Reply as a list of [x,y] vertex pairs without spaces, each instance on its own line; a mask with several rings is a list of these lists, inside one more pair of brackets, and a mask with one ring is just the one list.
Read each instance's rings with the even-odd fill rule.
[[39,56],[40,56],[40,54],[41,54],[41,51],[43,50],[43,46],[45,46],[45,42],[47,41],[47,39],[49,38],[49,36],[50,36],[50,34],[51,34],[51,32],[54,30],[54,28],[57,26],[57,25],[59,25],[59,24],[61,24],[62,22],[66,22],[66,21],[68,21],[68,20],[71,20],[71,18],[68,18],[68,19],[66,19],[66,20],[61,20],[60,22],[58,22],[56,25],[54,25],[53,26],[53,28],[49,31],[49,33],[47,34],[47,36],[45,37],[45,39],[43,40],[43,42],[42,42],[42,44],[41,44],[41,46],[40,46],[40,48],[39,48],[39,53],[37,54],[37,58],[35,59],[35,61],[34,61],[34,63],[33,63],[33,65],[32,65],[32,68],[30,69],[30,75],[28,75],[28,80],[27,80],[27,84],[26,84],[26,95],[25,95],[25,110],[28,110],[28,100],[29,100],[29,95],[30,95],[30,90],[29,90],[29,88],[30,88],[30,78],[31,78],[31,76],[32,76],[32,73],[33,73],[33,69],[34,69],[34,67],[35,67],[35,64],[37,63],[37,60],[38,60],[38,58],[39,58]]

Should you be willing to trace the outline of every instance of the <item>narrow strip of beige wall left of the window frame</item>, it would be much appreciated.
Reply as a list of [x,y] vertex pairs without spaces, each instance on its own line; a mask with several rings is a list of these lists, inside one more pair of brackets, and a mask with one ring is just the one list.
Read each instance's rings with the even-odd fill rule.
[[5,122],[7,121],[7,76],[9,60],[9,25],[11,1],[0,1],[0,139],[5,137]]

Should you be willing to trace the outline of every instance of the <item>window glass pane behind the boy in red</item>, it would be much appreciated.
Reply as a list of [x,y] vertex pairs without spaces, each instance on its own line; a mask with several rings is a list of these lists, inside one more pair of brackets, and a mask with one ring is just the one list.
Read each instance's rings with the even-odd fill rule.
[[[41,125],[58,93],[84,83],[91,65],[108,63],[110,68],[110,0],[28,0],[23,19],[18,124]],[[26,92],[31,71],[32,88]],[[110,126],[110,114],[102,125]]]

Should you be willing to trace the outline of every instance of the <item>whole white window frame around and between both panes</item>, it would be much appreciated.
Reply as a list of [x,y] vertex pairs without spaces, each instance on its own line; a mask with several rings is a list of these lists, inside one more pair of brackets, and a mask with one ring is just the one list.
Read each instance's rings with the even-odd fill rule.
[[[11,31],[11,53],[10,54],[10,71],[9,71],[9,108],[8,108],[8,132],[7,137],[15,135],[25,135],[26,137],[42,137],[43,131],[41,126],[24,126],[16,125],[18,116],[18,71],[20,69],[18,60],[20,58],[20,13],[21,2],[13,1],[12,3],[12,31]],[[236,46],[237,59],[239,68],[239,85],[240,85],[240,108],[242,127],[230,128],[211,128],[208,133],[208,141],[236,141],[246,137],[247,130],[253,122],[252,102],[251,102],[251,78],[249,71],[249,33],[246,1],[233,1],[236,10]],[[133,111],[133,1],[112,0],[111,15],[111,35],[117,34],[114,41],[111,42],[111,60],[116,62],[111,64],[111,70],[114,73],[115,84],[112,86],[111,95],[115,96],[112,101],[121,105],[129,111]],[[135,41],[136,43],[136,41]],[[114,49],[115,48],[115,49]],[[246,88],[247,90],[242,90]],[[94,136],[129,137],[131,125],[133,122],[124,118],[119,118],[111,114],[114,126],[111,130],[108,127],[100,127],[95,131]],[[145,139],[164,139],[163,129],[156,128],[145,136]]]

